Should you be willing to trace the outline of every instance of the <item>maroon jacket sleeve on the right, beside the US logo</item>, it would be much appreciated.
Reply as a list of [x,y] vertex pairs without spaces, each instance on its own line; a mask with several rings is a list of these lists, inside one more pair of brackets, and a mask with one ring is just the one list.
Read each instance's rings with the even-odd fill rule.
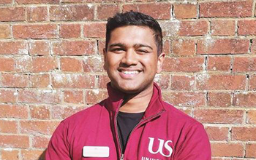
[[175,160],[211,160],[211,145],[203,125],[192,124],[183,143],[177,148]]

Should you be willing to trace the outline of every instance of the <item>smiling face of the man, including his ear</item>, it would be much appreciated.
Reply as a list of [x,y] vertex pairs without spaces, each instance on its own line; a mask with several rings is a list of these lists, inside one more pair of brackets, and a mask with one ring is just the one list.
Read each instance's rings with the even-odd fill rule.
[[162,71],[165,55],[157,56],[157,44],[150,28],[128,25],[111,32],[104,57],[111,86],[135,94],[151,89],[155,74]]

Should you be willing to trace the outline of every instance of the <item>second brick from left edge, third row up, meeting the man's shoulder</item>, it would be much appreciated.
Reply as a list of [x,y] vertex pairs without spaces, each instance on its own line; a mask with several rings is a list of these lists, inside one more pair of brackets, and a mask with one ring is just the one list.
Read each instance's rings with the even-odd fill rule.
[[60,121],[20,121],[20,133],[29,135],[52,135]]

